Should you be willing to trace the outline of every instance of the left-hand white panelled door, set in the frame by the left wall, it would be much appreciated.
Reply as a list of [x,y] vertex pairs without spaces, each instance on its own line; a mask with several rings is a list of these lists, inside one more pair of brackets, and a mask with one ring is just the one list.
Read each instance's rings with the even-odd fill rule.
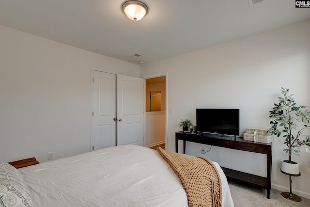
[[116,146],[116,75],[93,70],[93,150]]

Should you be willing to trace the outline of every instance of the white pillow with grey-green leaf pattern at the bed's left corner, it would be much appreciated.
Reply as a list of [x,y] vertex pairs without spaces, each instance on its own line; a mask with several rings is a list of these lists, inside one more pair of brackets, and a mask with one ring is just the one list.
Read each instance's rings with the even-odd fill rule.
[[15,167],[0,159],[0,205],[32,207],[32,198],[23,176]]

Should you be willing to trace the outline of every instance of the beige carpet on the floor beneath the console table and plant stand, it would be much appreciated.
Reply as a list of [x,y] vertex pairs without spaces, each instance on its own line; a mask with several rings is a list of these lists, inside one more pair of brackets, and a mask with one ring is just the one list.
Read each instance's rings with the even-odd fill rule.
[[281,195],[281,191],[271,189],[270,199],[267,190],[254,188],[229,181],[235,207],[310,207],[310,199],[301,197],[300,202],[290,201]]

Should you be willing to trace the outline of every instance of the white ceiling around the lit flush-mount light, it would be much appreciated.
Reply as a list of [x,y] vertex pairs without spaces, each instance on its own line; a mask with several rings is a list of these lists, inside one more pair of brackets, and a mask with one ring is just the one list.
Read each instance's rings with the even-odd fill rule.
[[[129,20],[124,0],[0,0],[0,25],[119,60],[146,64],[310,19],[294,0],[143,0]],[[138,58],[131,57],[141,54]]]

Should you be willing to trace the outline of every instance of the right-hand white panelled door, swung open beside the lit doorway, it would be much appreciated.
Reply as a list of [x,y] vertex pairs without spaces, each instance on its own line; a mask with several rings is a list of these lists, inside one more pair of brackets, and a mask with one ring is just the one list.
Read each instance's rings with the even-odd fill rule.
[[117,75],[117,145],[144,145],[144,79]]

